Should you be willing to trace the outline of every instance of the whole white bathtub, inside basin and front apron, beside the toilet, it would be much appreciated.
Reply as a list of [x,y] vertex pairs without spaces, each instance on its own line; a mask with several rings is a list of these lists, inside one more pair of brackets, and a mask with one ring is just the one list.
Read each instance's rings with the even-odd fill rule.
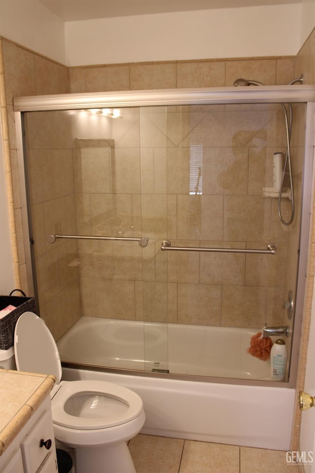
[[[67,364],[139,370],[135,375],[66,367],[63,379],[106,380],[138,393],[146,412],[143,434],[288,450],[295,390],[283,384],[246,384],[269,379],[269,363],[246,352],[254,333],[81,317],[59,340],[58,349]],[[144,370],[234,379],[231,384],[220,377],[200,382],[141,375]]]

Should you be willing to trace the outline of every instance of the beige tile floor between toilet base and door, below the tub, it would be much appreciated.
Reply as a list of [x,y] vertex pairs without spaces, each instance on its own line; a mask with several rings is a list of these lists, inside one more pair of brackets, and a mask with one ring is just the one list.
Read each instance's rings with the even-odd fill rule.
[[[285,452],[138,434],[128,443],[137,473],[298,473]],[[123,472],[122,472],[123,473]]]

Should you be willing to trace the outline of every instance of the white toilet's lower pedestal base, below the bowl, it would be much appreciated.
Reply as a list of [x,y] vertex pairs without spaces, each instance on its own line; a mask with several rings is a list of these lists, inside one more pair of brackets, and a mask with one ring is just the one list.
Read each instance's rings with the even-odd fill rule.
[[136,473],[125,441],[75,449],[75,473]]

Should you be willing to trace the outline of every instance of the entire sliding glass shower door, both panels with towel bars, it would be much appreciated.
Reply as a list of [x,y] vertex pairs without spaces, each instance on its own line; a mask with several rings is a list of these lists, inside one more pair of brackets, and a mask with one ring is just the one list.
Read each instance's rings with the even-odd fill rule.
[[294,104],[289,226],[279,104],[24,114],[37,300],[62,361],[270,379],[247,348],[293,326],[304,114]]

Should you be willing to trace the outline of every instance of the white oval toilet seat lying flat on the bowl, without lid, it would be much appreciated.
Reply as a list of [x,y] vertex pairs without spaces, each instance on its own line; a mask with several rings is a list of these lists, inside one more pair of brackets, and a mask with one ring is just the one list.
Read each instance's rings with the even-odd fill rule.
[[[76,397],[83,397],[83,402],[76,402]],[[72,406],[67,407],[71,401]],[[94,414],[98,403],[100,415]],[[85,411],[81,416],[75,415],[81,405]],[[141,410],[142,401],[137,394],[106,381],[62,381],[52,399],[54,423],[71,429],[93,430],[126,424],[138,417]]]

